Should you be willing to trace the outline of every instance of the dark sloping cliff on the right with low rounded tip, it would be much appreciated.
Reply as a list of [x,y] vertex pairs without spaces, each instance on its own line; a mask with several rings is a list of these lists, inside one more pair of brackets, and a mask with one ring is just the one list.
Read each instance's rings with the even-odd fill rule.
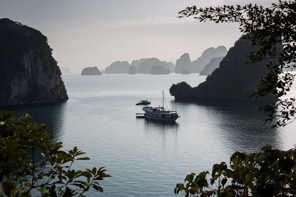
[[248,60],[246,55],[255,50],[258,50],[257,46],[252,46],[250,41],[240,38],[234,47],[229,49],[219,68],[215,69],[205,82],[194,88],[186,82],[173,84],[170,88],[171,95],[185,100],[276,101],[272,94],[267,94],[264,98],[248,99],[250,93],[257,90],[259,79],[267,72],[265,65],[269,64],[269,60],[244,64],[244,61]]

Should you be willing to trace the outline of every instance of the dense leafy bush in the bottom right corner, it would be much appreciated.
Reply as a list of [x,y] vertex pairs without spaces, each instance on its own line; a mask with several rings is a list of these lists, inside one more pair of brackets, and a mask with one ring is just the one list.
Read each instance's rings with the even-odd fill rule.
[[[209,172],[186,176],[174,190],[185,197],[289,197],[296,196],[296,149],[281,151],[266,145],[261,152],[235,152],[230,166],[214,164]],[[213,189],[214,187],[215,189]]]

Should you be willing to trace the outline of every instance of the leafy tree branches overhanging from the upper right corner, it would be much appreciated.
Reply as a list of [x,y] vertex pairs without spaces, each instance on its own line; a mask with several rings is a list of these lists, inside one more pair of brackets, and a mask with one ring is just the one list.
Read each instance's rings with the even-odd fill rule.
[[[280,98],[290,91],[295,80],[295,74],[284,72],[284,68],[293,71],[296,68],[296,2],[282,1],[272,3],[270,8],[257,4],[245,6],[223,5],[222,7],[197,8],[187,7],[180,11],[179,18],[193,16],[200,22],[207,20],[215,23],[238,23],[243,38],[258,45],[259,50],[248,55],[249,62],[256,63],[270,60],[268,73],[261,78],[257,91],[250,98],[275,94]],[[279,50],[278,43],[283,44]],[[276,63],[272,59],[278,58]],[[295,97],[273,103],[271,106],[261,106],[268,117],[267,121],[274,121],[273,127],[285,126],[296,119]]]

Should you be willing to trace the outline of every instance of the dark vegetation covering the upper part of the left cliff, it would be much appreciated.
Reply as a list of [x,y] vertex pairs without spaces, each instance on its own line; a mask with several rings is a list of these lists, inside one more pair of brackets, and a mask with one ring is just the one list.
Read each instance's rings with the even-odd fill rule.
[[0,19],[0,68],[11,75],[24,71],[24,52],[32,49],[41,59],[44,69],[59,71],[56,60],[52,57],[52,48],[47,43],[47,37],[38,30],[14,22],[8,18]]

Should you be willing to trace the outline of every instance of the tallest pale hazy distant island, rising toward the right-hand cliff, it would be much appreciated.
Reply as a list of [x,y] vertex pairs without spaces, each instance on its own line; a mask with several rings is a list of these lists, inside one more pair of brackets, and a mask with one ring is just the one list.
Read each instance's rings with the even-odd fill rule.
[[190,73],[200,72],[213,58],[222,57],[226,54],[227,50],[224,46],[219,46],[216,49],[214,47],[208,48],[197,60],[192,62],[189,71]]

